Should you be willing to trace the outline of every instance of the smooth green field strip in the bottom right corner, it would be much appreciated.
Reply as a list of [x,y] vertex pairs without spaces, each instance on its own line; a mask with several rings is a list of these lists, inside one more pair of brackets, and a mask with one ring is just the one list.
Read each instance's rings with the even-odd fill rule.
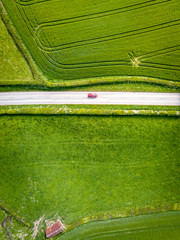
[[179,240],[180,214],[167,212],[93,222],[78,227],[59,240]]

